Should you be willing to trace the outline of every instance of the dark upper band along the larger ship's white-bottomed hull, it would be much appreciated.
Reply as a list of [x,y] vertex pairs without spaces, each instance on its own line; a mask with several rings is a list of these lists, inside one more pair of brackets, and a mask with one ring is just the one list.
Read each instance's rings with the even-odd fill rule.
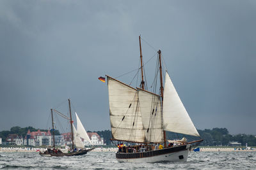
[[[152,150],[147,152],[138,152],[138,153],[116,153],[116,159],[141,159],[149,157],[157,157],[161,155],[168,155],[172,153],[179,153],[189,150],[188,145],[173,146],[171,148],[163,148],[161,150]],[[179,159],[182,159],[180,157]]]

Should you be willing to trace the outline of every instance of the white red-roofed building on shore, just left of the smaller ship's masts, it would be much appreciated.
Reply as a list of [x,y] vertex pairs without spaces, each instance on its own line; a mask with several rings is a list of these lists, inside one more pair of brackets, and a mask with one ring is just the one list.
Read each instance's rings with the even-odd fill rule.
[[38,129],[36,132],[30,132],[28,130],[26,137],[24,138],[24,145],[29,146],[51,146],[52,136],[51,132],[42,132]]

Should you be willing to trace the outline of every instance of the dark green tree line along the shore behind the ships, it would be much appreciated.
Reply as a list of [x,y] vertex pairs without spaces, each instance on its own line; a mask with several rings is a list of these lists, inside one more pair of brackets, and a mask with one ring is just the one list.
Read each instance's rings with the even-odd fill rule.
[[[10,131],[1,131],[0,132],[0,138],[2,138],[2,141],[6,141],[6,137],[8,134],[18,134],[19,136],[22,136],[23,138],[26,136],[28,129],[30,131],[38,131],[38,129],[35,129],[31,126],[29,127],[24,127],[21,128],[19,126],[12,127]],[[48,131],[45,129],[40,129],[40,131]],[[92,132],[92,131],[88,131]],[[111,144],[111,138],[112,134],[111,131],[105,130],[105,131],[93,131],[97,132],[100,137],[104,138],[104,143],[106,145]],[[51,132],[52,133],[52,132]],[[198,130],[198,133],[200,134],[200,138],[204,139],[202,143],[200,143],[200,146],[227,146],[228,143],[231,141],[236,141],[241,143],[241,145],[246,145],[248,146],[256,146],[256,137],[251,135],[251,134],[236,134],[236,135],[231,135],[228,132],[227,128],[213,128],[213,129],[204,129],[204,130]],[[60,135],[60,132],[58,130],[54,130],[54,134]],[[188,141],[194,141],[198,140],[200,138],[195,137],[195,136],[188,136],[184,134],[177,134],[173,132],[166,132],[166,138],[167,139],[181,139],[181,138],[187,138]]]

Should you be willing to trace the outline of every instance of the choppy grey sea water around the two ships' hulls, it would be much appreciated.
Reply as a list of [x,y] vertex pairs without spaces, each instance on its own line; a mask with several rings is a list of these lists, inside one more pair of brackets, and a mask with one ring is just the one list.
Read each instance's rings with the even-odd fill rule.
[[256,169],[256,152],[191,152],[187,162],[118,163],[114,152],[76,157],[1,152],[0,169]]

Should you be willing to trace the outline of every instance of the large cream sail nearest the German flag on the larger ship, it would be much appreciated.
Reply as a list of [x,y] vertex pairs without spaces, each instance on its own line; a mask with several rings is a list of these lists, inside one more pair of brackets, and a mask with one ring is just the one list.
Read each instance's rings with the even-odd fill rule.
[[113,138],[122,141],[145,142],[137,90],[108,76],[108,92]]

